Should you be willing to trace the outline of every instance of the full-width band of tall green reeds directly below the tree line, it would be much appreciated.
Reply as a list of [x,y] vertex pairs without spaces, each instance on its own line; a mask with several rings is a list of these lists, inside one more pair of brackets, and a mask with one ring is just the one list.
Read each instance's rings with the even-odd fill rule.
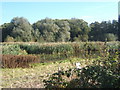
[[[114,54],[118,51],[119,42],[73,42],[73,43],[31,43],[3,44],[3,54],[25,55],[33,54],[40,61],[55,61],[71,57],[96,58],[107,55],[106,51]],[[106,50],[106,51],[105,51]]]

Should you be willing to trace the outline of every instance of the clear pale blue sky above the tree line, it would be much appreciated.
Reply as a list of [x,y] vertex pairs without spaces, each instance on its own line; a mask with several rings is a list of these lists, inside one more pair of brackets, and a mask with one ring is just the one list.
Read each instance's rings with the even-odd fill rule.
[[31,24],[46,17],[78,18],[89,24],[118,19],[118,2],[2,2],[1,6],[1,24],[10,22],[14,17],[24,17]]

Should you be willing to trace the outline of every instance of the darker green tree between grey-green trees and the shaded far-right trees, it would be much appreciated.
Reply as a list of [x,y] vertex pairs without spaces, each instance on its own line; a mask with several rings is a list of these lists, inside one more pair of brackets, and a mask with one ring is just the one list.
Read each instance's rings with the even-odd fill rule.
[[90,28],[88,23],[82,19],[71,19],[70,23],[70,33],[71,41],[88,41],[88,33]]

